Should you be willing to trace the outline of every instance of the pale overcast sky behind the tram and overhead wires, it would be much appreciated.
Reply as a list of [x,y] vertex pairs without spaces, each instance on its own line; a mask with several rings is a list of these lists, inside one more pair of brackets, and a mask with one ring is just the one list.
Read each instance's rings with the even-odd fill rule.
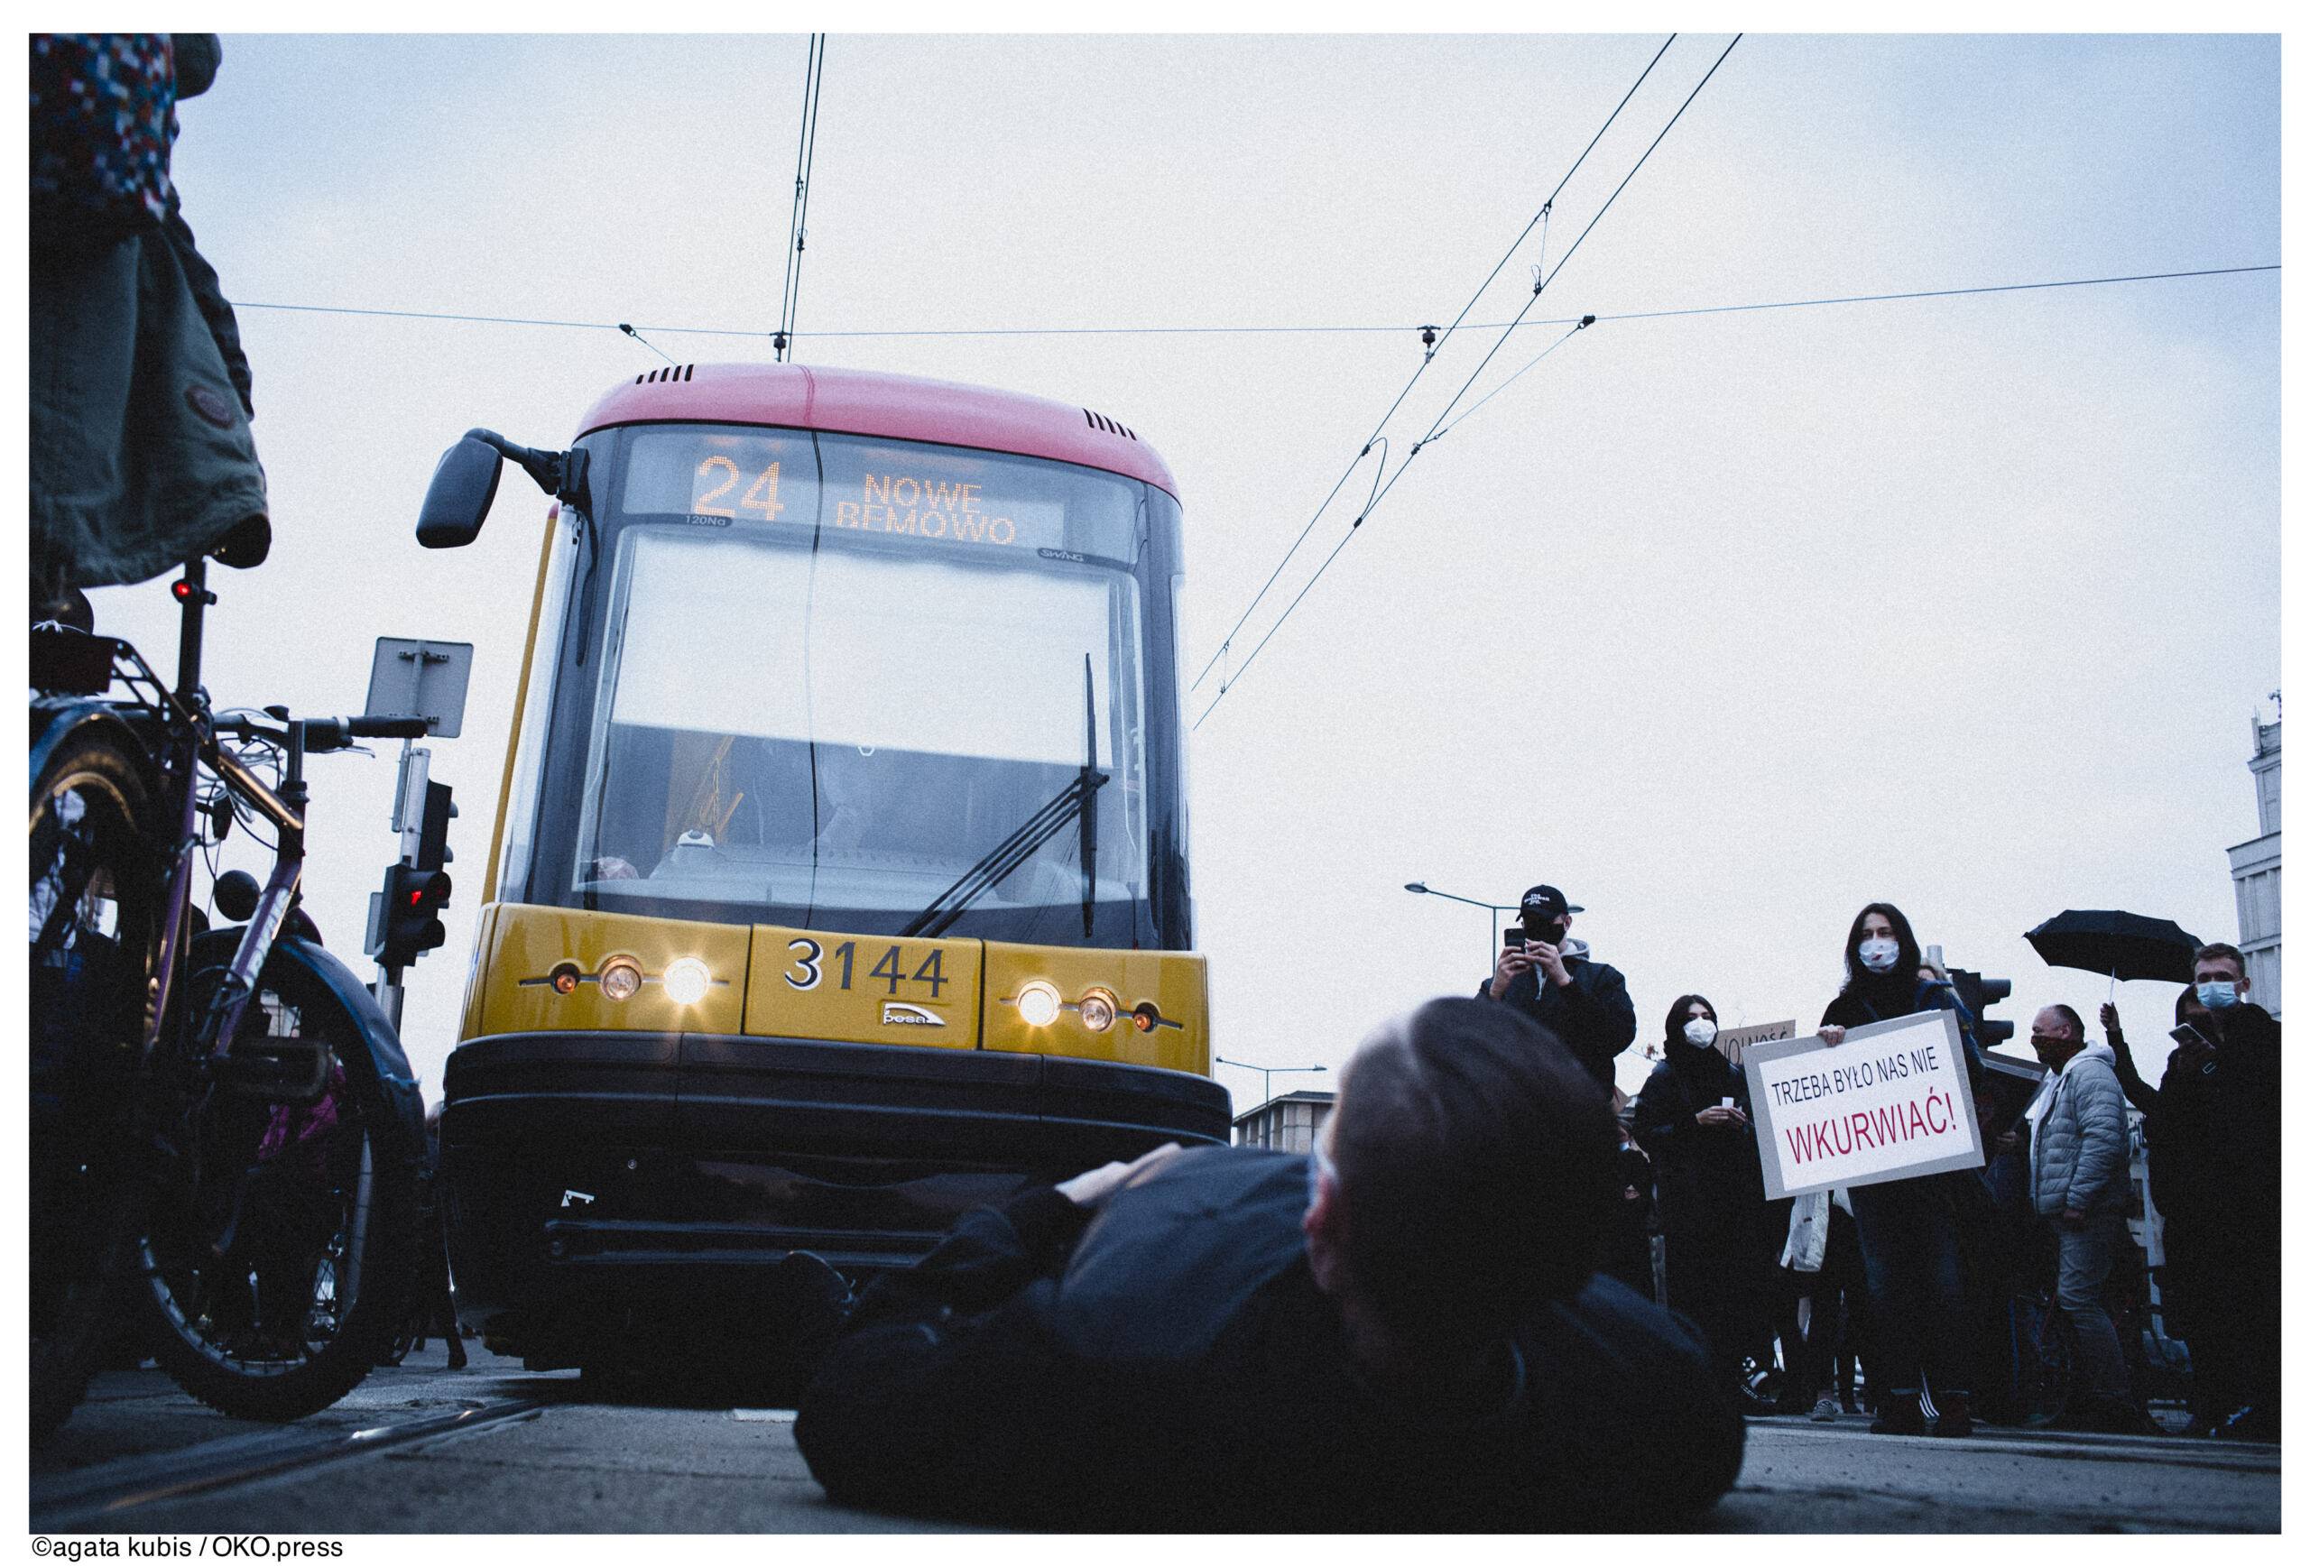
[[[1130,425],[1178,475],[1201,669],[1416,328],[1469,302],[1663,37],[836,35],[795,358]],[[1529,316],[1599,323],[1513,332],[1460,408],[1564,342],[1421,452],[1240,669],[1349,531],[1358,466],[1234,639],[1190,752],[1220,1055],[1337,1071],[1471,992],[1488,916],[1407,882],[1562,886],[1638,1045],[1686,990],[1811,1025],[1878,898],[2012,979],[2024,1036],[2107,992],[2021,939],[2065,907],[2236,939],[2225,849],[2259,831],[2250,720],[2280,683],[2280,275],[1612,316],[2278,263],[2278,39],[1753,35],[1599,219],[1726,44],[1668,48],[1467,316],[1515,316],[1545,263]],[[182,106],[275,517],[263,568],[213,577],[210,690],[358,711],[374,637],[476,644],[464,732],[432,745],[462,805],[450,939],[404,1015],[430,1099],[545,501],[511,475],[474,547],[420,552],[427,475],[474,425],[566,445],[665,362],[608,323],[772,358],[802,81],[802,35],[229,35]],[[1180,325],[1398,330],[843,335]],[[1499,337],[1439,346],[1388,473]],[[95,598],[166,655],[162,584]],[[310,778],[307,902],[367,974],[390,748]],[[247,838],[226,861],[259,865]],[[2146,1071],[2171,997],[2118,985]]]

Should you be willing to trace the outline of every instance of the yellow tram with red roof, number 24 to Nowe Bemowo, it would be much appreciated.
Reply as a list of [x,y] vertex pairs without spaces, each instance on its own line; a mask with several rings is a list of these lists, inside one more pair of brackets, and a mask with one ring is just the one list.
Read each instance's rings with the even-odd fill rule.
[[552,505],[441,1177],[460,1315],[617,1364],[811,1251],[1224,1142],[1192,951],[1180,508],[1125,425],[797,365],[612,388]]

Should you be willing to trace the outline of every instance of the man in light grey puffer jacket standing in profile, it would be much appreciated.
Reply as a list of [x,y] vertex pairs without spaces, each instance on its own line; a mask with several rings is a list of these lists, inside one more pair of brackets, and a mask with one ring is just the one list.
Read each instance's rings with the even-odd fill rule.
[[2070,1419],[2102,1431],[2139,1431],[2128,1401],[2125,1350],[2102,1299],[2125,1232],[2125,1092],[2107,1045],[2086,1043],[2067,1006],[2040,1009],[2030,1050],[2047,1069],[2030,1105],[2030,1195],[2061,1239],[2056,1302],[2077,1329],[2081,1389]]

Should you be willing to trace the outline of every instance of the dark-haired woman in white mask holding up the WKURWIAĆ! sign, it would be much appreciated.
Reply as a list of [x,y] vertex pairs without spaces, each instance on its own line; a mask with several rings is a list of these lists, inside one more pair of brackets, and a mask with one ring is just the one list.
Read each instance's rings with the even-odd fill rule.
[[[1846,1029],[1952,1009],[1947,983],[1920,979],[1922,965],[1908,916],[1890,902],[1866,905],[1846,932],[1846,985],[1820,1015],[1823,1041],[1834,1048]],[[1966,1043],[1970,1069],[1973,1041]],[[1964,1179],[1966,1172],[1940,1172],[1853,1189],[1869,1279],[1871,1387],[1883,1373],[1871,1431],[1924,1433],[1924,1387],[1933,1394],[1933,1435],[1973,1431],[1973,1357],[1957,1255]]]

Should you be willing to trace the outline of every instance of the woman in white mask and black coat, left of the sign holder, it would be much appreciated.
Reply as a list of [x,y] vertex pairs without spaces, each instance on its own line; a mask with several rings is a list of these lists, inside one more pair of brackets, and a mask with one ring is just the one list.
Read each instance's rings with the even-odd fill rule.
[[1668,1304],[1709,1341],[1719,1378],[1744,1415],[1769,1415],[1742,1357],[1769,1325],[1765,1172],[1749,1124],[1749,1080],[1716,1050],[1716,1009],[1679,995],[1661,1064],[1635,1096],[1635,1135],[1652,1154],[1668,1253]]

